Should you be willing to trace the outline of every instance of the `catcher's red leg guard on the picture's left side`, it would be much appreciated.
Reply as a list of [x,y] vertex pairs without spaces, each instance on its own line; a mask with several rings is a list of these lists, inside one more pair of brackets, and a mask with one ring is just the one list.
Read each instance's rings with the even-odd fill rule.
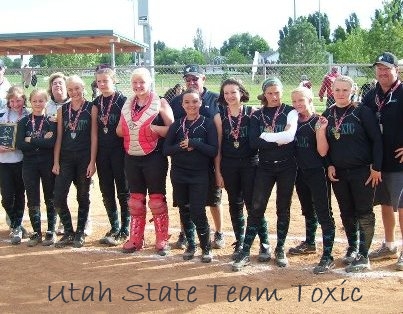
[[128,201],[130,209],[130,236],[123,244],[124,253],[132,253],[143,248],[144,229],[146,225],[145,195],[133,193]]

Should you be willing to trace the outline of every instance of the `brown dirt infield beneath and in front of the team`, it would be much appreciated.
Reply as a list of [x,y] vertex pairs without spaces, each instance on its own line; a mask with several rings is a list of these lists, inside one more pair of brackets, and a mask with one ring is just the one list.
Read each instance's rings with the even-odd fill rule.
[[[168,202],[171,191],[168,182]],[[77,212],[75,190],[69,204]],[[271,244],[275,245],[275,198],[266,217]],[[4,210],[0,213],[0,312],[1,313],[403,313],[403,272],[394,270],[396,260],[373,262],[372,271],[346,274],[341,258],[346,249],[336,202],[337,223],[334,256],[336,268],[329,274],[313,275],[319,261],[321,232],[317,254],[289,256],[290,266],[280,269],[271,261],[258,263],[255,243],[252,265],[244,271],[231,271],[231,232],[228,203],[224,192],[226,248],[214,250],[211,264],[202,264],[197,256],[183,261],[181,250],[167,257],[154,254],[153,226],[147,224],[147,247],[135,254],[123,254],[119,248],[103,247],[100,237],[109,230],[98,189],[91,192],[91,217],[94,232],[84,248],[28,248],[26,240],[11,245]],[[44,208],[44,207],[43,207]],[[209,212],[209,211],[208,211]],[[382,240],[380,209],[376,212],[373,247]],[[148,219],[150,218],[148,213]],[[30,228],[27,212],[24,225]],[[45,228],[43,220],[43,228]],[[179,216],[170,208],[172,242],[177,239]],[[213,227],[213,226],[212,226]],[[304,221],[296,196],[293,199],[290,232],[286,247],[304,236]],[[255,241],[256,242],[256,241]]]

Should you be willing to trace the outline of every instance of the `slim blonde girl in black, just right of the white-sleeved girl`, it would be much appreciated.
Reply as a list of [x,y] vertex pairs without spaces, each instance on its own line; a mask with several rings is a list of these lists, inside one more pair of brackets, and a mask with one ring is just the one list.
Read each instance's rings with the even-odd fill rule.
[[[318,152],[316,130],[319,116],[314,113],[313,94],[306,87],[297,87],[291,92],[292,104],[298,111],[298,128],[296,138],[297,179],[295,188],[305,217],[306,238],[301,244],[290,248],[289,253],[316,253],[315,234],[318,221],[322,227],[323,253],[313,272],[321,274],[334,268],[332,249],[335,224],[330,206],[330,183],[327,177],[325,160]],[[322,152],[326,155],[326,152]]]

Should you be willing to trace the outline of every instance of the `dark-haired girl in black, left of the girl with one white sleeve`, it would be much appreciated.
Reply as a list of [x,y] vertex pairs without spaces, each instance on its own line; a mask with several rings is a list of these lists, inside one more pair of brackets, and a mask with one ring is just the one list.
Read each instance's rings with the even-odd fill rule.
[[[252,206],[253,182],[258,163],[257,150],[249,145],[249,125],[253,107],[243,105],[249,101],[245,87],[234,79],[221,84],[218,98],[223,126],[221,144],[221,173],[228,193],[229,212],[235,234],[234,254],[236,259],[241,252],[245,237],[243,206],[249,212]],[[260,237],[259,261],[267,261],[268,234],[267,222],[263,217]]]

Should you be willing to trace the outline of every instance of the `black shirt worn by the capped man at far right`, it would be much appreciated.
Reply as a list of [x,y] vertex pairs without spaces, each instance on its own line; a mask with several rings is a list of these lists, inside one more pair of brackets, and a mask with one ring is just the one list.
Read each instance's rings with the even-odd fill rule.
[[[378,122],[382,125],[383,162],[382,171],[403,171],[403,164],[395,158],[396,149],[403,147],[403,85],[400,82],[398,88],[384,93],[379,83],[364,97],[362,104],[372,109],[379,116]],[[393,85],[394,86],[394,85]],[[379,103],[384,104],[378,113],[376,97]]]

